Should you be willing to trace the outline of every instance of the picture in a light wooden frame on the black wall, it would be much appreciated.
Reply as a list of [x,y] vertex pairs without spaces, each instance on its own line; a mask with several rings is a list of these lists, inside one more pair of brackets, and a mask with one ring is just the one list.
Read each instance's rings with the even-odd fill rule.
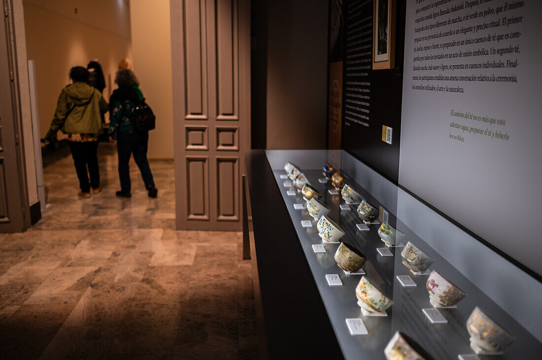
[[373,1],[373,70],[395,67],[395,2]]

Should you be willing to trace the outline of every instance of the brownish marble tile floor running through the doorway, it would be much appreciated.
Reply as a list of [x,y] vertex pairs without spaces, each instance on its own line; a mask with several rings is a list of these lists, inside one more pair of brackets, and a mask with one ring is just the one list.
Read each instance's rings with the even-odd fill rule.
[[0,234],[0,358],[256,358],[241,233],[175,230],[172,161],[152,161],[150,199],[131,162],[118,199],[114,146],[103,191],[79,199],[71,158],[44,169],[50,211]]

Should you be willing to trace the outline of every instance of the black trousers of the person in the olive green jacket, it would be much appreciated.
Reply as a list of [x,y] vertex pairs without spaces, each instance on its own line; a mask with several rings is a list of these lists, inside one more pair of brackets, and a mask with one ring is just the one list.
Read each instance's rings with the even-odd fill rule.
[[[72,150],[75,172],[79,179],[79,188],[83,193],[91,192],[100,187],[100,170],[98,168],[98,141],[75,142],[68,141]],[[87,173],[88,169],[88,173]],[[90,175],[91,181],[88,181]]]

